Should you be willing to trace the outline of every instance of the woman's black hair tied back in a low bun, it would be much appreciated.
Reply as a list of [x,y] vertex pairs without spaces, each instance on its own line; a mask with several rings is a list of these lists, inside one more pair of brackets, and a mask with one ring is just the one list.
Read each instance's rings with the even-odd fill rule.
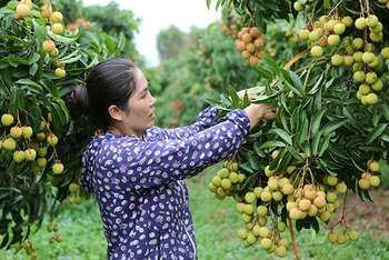
[[72,117],[86,116],[102,130],[112,123],[108,108],[112,104],[126,109],[136,89],[138,67],[129,59],[111,58],[98,63],[80,86],[64,101]]

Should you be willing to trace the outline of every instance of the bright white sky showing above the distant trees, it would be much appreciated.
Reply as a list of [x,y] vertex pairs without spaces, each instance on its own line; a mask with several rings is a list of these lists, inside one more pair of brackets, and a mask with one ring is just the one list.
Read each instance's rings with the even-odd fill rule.
[[[107,6],[111,0],[83,0],[84,6]],[[211,1],[210,9],[206,0],[113,0],[122,9],[131,10],[141,19],[136,44],[146,58],[147,64],[159,64],[157,51],[157,34],[170,26],[178,27],[182,32],[189,32],[190,27],[207,28],[220,20],[220,8],[215,9],[217,0]]]

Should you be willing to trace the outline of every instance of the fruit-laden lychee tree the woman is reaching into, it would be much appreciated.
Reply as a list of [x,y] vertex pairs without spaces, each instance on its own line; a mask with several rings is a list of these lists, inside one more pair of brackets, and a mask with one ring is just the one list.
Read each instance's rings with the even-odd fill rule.
[[[288,61],[275,60],[267,51],[251,62],[260,83],[243,97],[230,88],[220,100],[209,100],[222,109],[220,117],[249,102],[277,108],[277,119],[252,130],[209,189],[217,199],[237,201],[242,218],[237,236],[246,247],[259,244],[285,257],[290,241],[282,232],[288,227],[299,259],[295,228],[318,232],[320,222],[329,223],[333,212],[342,212],[347,192],[371,200],[369,189],[380,186],[379,161],[389,161],[389,3],[220,0],[220,7],[241,21],[240,51],[260,51],[262,46],[249,50],[239,42],[252,42],[252,28],[271,40],[266,34],[273,23],[295,27],[300,43],[306,42]],[[340,216],[330,227],[329,242],[358,239]]]

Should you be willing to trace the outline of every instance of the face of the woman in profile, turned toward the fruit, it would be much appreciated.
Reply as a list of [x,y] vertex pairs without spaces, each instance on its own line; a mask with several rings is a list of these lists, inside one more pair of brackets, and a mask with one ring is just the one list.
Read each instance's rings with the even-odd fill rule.
[[149,82],[143,72],[137,69],[134,74],[136,89],[129,99],[126,111],[122,111],[120,129],[123,134],[136,134],[141,138],[143,131],[154,124],[156,99],[149,91]]

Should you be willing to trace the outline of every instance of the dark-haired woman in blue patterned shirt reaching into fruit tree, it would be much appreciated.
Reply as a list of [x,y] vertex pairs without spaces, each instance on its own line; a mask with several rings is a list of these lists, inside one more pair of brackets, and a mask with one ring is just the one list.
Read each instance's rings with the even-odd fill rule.
[[72,97],[83,111],[69,110],[103,130],[83,154],[81,187],[96,194],[108,259],[197,259],[184,179],[236,153],[273,108],[250,104],[216,121],[210,107],[191,126],[160,129],[148,81],[123,58],[97,64]]

